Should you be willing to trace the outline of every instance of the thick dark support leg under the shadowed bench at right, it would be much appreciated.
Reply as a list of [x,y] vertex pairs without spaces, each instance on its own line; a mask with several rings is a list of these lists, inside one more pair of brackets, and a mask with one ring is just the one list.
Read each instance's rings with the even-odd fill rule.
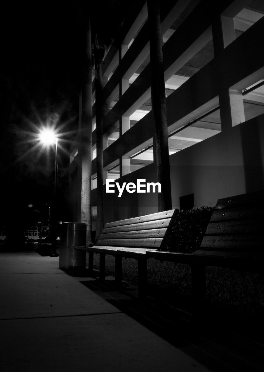
[[195,318],[204,314],[206,298],[205,266],[191,266],[191,292],[193,315]]

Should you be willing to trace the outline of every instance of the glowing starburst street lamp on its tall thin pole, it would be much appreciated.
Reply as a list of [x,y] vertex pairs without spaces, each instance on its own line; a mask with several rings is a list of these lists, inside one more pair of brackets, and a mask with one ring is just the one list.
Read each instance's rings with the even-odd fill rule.
[[39,132],[38,136],[40,142],[43,145],[50,146],[55,144],[55,175],[54,175],[54,202],[53,202],[53,211],[51,214],[51,238],[52,238],[52,252],[50,257],[57,257],[56,253],[56,192],[57,192],[57,183],[58,183],[58,135],[51,128],[42,129]]

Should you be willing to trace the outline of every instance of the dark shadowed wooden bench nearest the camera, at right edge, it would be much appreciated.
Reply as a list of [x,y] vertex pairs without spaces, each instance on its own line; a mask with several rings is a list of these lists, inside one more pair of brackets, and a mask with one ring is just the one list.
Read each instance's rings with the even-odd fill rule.
[[219,199],[199,250],[193,253],[146,251],[147,258],[191,266],[194,308],[206,296],[206,266],[263,272],[264,191]]

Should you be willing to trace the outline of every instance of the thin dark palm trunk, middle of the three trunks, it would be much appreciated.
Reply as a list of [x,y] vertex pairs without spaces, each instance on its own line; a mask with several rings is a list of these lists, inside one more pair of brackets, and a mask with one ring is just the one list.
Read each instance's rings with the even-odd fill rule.
[[[95,55],[96,53],[94,53]],[[96,175],[97,175],[97,219],[96,240],[104,228],[103,210],[103,102],[102,102],[102,68],[99,61],[95,61],[95,99],[96,99]]]

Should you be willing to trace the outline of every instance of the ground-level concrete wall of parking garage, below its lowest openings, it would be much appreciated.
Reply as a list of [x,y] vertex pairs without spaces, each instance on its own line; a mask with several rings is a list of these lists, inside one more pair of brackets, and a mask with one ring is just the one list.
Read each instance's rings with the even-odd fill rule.
[[[232,128],[228,148],[222,133],[170,156],[173,208],[194,194],[194,206],[214,206],[219,198],[264,189],[264,115]],[[157,182],[153,164],[117,180]],[[127,193],[118,198],[104,189],[104,223],[158,211],[157,193]],[[96,190],[92,191],[96,205]]]

